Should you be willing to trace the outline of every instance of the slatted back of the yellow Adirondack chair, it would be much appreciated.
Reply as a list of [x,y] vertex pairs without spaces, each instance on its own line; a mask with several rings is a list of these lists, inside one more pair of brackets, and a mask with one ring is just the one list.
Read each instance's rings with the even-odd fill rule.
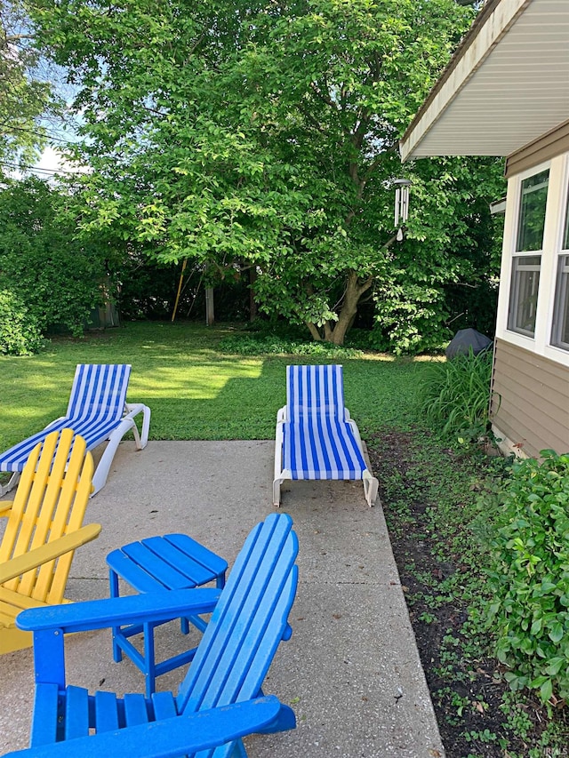
[[[81,527],[92,493],[93,468],[84,438],[72,429],[52,432],[36,445],[13,500],[0,544],[0,563]],[[73,552],[61,555],[4,587],[39,602],[59,603],[72,560]]]

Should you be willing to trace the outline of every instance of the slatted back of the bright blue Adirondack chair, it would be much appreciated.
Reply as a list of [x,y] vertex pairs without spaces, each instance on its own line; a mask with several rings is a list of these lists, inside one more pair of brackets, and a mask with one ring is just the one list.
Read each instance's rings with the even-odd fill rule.
[[[286,514],[268,515],[236,558],[178,692],[178,713],[257,697],[278,644],[290,636],[298,539]],[[218,748],[216,758],[230,755]],[[224,752],[227,751],[227,752]]]

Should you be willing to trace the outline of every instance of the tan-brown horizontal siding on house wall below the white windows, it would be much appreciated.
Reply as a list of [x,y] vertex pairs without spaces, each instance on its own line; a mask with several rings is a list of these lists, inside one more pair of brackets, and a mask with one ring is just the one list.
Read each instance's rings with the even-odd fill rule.
[[569,368],[497,339],[493,423],[527,455],[569,451]]

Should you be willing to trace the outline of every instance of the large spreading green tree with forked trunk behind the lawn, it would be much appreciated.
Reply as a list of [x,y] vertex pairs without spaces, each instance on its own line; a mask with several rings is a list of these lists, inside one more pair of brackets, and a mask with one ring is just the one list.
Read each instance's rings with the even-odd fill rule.
[[[262,309],[341,344],[393,280],[398,139],[474,12],[454,0],[32,6],[80,87],[84,229],[212,276],[254,267]],[[418,281],[460,275],[441,231],[455,200],[433,230],[409,224]]]

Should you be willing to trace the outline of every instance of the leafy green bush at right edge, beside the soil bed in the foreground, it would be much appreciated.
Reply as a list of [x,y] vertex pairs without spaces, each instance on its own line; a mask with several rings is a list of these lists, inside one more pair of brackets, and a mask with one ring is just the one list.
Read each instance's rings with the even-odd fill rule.
[[489,626],[512,690],[569,698],[569,454],[517,460],[497,496]]

